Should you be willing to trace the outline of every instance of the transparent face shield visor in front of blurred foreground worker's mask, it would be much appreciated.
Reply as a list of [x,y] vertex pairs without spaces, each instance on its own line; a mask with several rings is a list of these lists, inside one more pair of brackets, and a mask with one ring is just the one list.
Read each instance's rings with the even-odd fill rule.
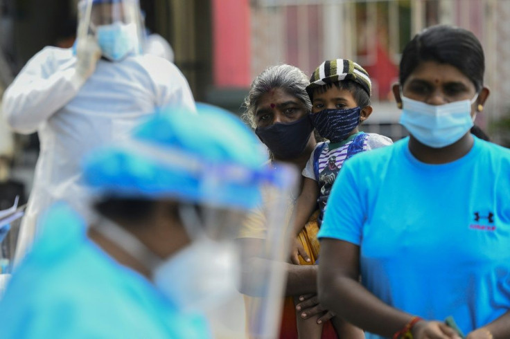
[[[218,212],[209,206],[209,215],[204,213],[208,234],[231,246],[239,267],[236,287],[206,309],[214,338],[276,338],[279,331],[291,239],[290,197],[299,176],[284,165],[265,175],[249,180],[258,181],[261,194],[252,208]],[[212,192],[222,190],[221,185],[208,186]]]

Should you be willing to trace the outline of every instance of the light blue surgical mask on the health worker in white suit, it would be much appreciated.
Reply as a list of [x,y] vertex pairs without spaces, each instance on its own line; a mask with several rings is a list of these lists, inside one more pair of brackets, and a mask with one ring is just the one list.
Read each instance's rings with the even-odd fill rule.
[[134,51],[138,41],[137,26],[118,21],[98,26],[97,39],[103,56],[118,61]]

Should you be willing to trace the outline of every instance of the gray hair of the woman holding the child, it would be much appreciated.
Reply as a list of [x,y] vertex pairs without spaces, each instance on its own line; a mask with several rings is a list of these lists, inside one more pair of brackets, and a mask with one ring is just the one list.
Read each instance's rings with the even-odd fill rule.
[[308,77],[303,71],[295,66],[281,64],[266,68],[257,75],[245,98],[246,111],[243,120],[252,127],[256,127],[255,109],[261,96],[272,89],[283,89],[290,95],[298,98],[306,105],[308,111],[312,109],[312,102],[306,93],[306,86],[310,84]]

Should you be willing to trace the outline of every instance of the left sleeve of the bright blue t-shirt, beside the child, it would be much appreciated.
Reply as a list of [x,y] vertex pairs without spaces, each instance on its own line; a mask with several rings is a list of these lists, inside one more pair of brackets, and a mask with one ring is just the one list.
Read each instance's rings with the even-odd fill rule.
[[362,226],[365,219],[366,199],[362,199],[360,185],[359,159],[352,158],[344,163],[339,172],[331,195],[319,238],[333,238],[361,244]]

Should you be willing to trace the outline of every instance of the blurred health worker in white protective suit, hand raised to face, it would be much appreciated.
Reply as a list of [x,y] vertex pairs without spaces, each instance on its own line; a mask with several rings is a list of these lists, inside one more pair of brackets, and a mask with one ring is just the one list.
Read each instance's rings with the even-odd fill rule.
[[142,53],[138,0],[81,0],[78,15],[76,48],[44,48],[3,95],[8,125],[22,134],[37,131],[41,145],[17,262],[53,201],[85,205],[78,164],[84,154],[124,138],[159,107],[195,111],[179,69]]

